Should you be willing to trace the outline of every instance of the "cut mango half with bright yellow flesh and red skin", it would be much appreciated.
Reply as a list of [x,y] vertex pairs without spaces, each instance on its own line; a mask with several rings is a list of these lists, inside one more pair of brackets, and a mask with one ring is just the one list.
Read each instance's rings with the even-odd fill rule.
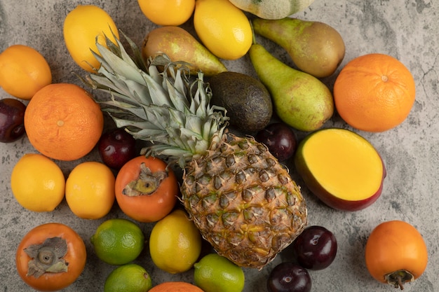
[[358,211],[381,195],[386,167],[377,150],[359,134],[329,128],[309,134],[295,153],[306,187],[329,207]]

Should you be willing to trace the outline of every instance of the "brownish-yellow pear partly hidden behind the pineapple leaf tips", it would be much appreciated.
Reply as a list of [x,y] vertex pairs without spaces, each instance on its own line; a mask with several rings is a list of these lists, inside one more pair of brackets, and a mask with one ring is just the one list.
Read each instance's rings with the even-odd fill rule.
[[173,62],[189,63],[191,75],[196,75],[200,70],[205,76],[227,71],[218,57],[181,27],[158,27],[145,36],[142,56],[147,59],[161,53],[168,55]]

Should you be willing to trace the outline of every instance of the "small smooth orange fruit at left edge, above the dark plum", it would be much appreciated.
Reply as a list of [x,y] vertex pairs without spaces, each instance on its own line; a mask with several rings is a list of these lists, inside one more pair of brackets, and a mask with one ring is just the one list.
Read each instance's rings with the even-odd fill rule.
[[49,64],[34,48],[13,45],[0,54],[0,86],[13,97],[31,99],[50,83]]

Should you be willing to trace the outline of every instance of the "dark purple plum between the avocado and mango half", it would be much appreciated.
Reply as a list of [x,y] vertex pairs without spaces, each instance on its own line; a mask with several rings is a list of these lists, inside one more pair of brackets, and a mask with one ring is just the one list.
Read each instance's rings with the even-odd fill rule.
[[272,123],[257,132],[255,139],[265,144],[279,161],[292,157],[296,151],[297,139],[291,128],[284,123]]

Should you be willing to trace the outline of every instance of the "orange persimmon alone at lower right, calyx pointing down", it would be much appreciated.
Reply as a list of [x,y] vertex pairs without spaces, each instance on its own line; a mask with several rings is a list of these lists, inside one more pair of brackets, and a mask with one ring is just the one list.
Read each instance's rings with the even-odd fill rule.
[[421,276],[428,252],[419,231],[404,221],[386,221],[370,233],[365,246],[366,267],[374,279],[403,290]]

